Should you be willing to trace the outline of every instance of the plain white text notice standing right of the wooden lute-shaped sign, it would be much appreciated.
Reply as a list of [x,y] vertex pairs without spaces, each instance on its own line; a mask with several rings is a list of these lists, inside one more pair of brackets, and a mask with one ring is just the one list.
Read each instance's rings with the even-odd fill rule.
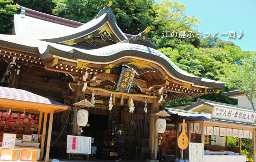
[[189,143],[189,162],[203,162],[204,144]]

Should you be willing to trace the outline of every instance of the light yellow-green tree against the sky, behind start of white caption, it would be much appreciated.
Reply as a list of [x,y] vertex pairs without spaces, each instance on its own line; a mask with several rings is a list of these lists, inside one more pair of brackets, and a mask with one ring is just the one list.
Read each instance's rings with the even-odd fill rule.
[[[187,16],[184,11],[186,6],[182,3],[163,0],[160,3],[155,2],[153,4],[155,12],[154,17],[154,28],[153,28],[153,40],[156,42],[159,48],[172,47],[175,48],[178,44],[192,44],[195,47],[199,45],[199,38],[196,36],[196,32],[191,29],[192,26],[199,26],[201,20],[195,16]],[[193,36],[188,35],[189,32],[193,32]],[[172,32],[173,37],[162,38],[163,35],[168,36]],[[185,32],[186,38],[178,38],[180,32]]]

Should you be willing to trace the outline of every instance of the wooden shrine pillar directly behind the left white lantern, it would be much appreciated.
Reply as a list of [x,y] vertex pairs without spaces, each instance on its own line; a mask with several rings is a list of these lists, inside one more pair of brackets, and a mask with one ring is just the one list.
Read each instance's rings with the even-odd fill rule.
[[[81,100],[85,100],[85,92],[82,92],[81,86],[78,87],[78,92],[76,92],[76,102],[79,102]],[[76,123],[77,118],[77,112],[80,110],[80,107],[75,107],[74,111],[74,120],[73,120],[73,127],[72,127],[72,135],[81,136],[81,130],[79,126]]]

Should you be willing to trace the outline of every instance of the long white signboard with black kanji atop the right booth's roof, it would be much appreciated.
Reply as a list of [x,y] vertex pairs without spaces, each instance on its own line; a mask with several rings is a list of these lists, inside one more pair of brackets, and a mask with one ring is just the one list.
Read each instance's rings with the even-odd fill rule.
[[232,122],[242,122],[254,124],[256,112],[246,109],[223,107],[215,105],[212,111],[212,119],[229,120]]

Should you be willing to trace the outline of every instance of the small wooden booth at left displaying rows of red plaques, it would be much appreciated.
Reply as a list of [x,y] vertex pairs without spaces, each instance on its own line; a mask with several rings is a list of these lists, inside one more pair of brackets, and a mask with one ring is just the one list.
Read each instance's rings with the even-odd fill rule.
[[[38,141],[38,143],[22,143],[21,140],[16,140],[15,149],[23,149],[26,147],[25,149],[37,150],[40,155],[40,158],[39,155],[37,156],[37,160],[42,160],[44,154],[43,148],[46,136],[46,125],[48,125],[45,155],[45,161],[48,162],[53,113],[65,111],[67,109],[69,109],[69,106],[65,104],[49,100],[48,98],[25,90],[0,87],[0,136],[3,136],[3,133],[11,133],[17,134],[16,137],[18,139],[22,139],[24,134],[39,134],[40,141]],[[49,122],[47,122],[48,114],[50,114]],[[42,119],[43,126],[41,126]],[[2,143],[0,144],[2,145]]]

